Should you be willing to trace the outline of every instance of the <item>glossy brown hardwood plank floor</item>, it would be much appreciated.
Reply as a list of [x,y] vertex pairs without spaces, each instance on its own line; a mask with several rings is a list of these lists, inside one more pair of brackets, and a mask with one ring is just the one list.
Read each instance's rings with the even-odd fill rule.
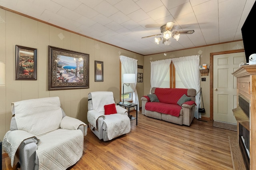
[[[233,170],[236,132],[212,123],[194,119],[188,127],[138,114],[138,126],[131,121],[131,132],[107,142],[88,128],[83,156],[69,170]],[[2,163],[12,169],[8,157]]]

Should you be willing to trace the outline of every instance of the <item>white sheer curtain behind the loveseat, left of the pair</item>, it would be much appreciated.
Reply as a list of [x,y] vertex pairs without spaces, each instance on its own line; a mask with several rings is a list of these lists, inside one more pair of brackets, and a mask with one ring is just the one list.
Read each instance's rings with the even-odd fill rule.
[[158,61],[150,61],[151,74],[150,74],[150,91],[152,87],[160,87],[164,81],[164,77],[170,68],[172,59],[163,59]]

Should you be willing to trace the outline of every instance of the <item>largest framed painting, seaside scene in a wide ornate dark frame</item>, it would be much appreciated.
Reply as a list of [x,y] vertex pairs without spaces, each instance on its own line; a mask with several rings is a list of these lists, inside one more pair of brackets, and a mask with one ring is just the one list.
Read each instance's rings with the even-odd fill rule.
[[89,54],[48,46],[48,90],[88,89]]

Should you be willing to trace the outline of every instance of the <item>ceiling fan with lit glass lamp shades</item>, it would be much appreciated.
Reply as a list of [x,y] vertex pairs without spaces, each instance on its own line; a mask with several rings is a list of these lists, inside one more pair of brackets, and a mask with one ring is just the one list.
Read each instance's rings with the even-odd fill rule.
[[163,43],[165,45],[170,45],[171,41],[169,41],[169,38],[172,37],[176,41],[178,41],[180,38],[180,34],[193,34],[194,33],[194,30],[172,31],[173,26],[174,26],[174,22],[167,22],[165,25],[160,27],[162,34],[155,34],[155,35],[146,36],[146,37],[142,37],[142,38],[164,35],[163,37],[155,38],[155,42],[157,44],[159,44],[159,42],[163,39]]

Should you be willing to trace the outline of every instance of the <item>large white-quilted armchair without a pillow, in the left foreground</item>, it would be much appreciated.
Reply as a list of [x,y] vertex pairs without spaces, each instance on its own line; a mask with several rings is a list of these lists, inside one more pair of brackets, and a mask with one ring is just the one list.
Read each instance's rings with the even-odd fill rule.
[[59,97],[18,101],[11,107],[2,147],[12,167],[18,159],[21,170],[64,170],[82,157],[87,125],[66,116]]

